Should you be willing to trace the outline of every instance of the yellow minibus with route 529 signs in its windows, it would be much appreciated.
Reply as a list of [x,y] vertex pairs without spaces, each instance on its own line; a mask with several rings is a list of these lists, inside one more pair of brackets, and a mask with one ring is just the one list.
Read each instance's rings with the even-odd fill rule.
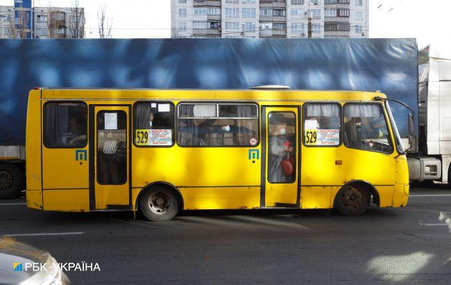
[[332,90],[35,88],[26,199],[44,211],[406,206],[385,95]]

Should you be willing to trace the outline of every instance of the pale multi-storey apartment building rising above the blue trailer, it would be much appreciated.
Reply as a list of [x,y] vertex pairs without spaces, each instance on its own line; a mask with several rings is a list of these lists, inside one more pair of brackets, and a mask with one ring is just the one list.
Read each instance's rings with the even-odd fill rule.
[[172,38],[368,38],[369,0],[171,0]]

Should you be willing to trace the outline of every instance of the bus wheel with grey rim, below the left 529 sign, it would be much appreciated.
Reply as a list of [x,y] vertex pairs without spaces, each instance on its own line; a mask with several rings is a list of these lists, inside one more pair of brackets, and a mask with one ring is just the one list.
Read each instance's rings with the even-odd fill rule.
[[167,222],[178,213],[178,199],[173,190],[152,186],[139,198],[139,209],[152,222]]

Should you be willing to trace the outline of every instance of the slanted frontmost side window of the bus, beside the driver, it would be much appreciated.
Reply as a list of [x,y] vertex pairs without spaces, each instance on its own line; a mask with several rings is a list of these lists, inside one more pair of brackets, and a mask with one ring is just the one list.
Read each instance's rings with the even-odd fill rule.
[[343,140],[346,147],[391,154],[390,133],[380,104],[345,104]]

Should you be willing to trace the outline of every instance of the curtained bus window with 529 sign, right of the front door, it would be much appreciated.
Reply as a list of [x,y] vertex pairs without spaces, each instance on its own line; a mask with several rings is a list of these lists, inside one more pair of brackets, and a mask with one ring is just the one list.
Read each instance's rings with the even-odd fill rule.
[[313,147],[336,147],[341,138],[341,105],[305,103],[304,144]]

